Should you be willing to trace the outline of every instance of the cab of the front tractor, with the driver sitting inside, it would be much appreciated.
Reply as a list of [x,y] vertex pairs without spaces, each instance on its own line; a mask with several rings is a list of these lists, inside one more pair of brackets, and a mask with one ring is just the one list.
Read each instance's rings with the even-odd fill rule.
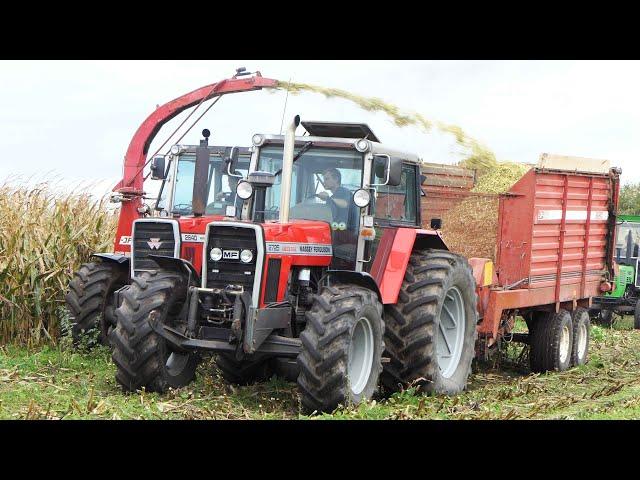
[[[331,268],[370,272],[384,231],[421,225],[420,159],[384,146],[365,124],[302,122],[302,127],[308,135],[295,136],[288,178],[285,136],[253,136],[250,172],[264,172],[272,183],[254,188],[249,175],[239,184],[239,196],[247,200],[241,218],[324,222],[331,235]],[[289,192],[287,205],[283,188]]]

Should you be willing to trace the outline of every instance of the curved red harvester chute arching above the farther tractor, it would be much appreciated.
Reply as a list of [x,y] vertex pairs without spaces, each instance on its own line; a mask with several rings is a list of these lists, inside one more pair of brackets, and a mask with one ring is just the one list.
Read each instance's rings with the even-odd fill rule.
[[130,252],[129,245],[120,245],[122,236],[131,235],[133,221],[141,218],[138,208],[142,207],[143,175],[149,145],[160,131],[162,125],[184,110],[197,105],[202,99],[213,98],[226,93],[248,92],[265,87],[275,87],[276,80],[263,78],[259,73],[250,78],[231,78],[194,90],[158,107],[140,125],[133,136],[124,159],[124,176],[113,188],[129,199],[122,202],[114,251]]

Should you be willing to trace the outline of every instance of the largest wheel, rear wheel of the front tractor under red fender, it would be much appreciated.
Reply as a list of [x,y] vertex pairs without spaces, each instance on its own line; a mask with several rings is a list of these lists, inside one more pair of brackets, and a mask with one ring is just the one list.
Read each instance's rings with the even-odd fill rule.
[[415,251],[395,305],[385,310],[382,382],[394,392],[413,384],[425,393],[466,388],[477,339],[476,282],[464,257]]

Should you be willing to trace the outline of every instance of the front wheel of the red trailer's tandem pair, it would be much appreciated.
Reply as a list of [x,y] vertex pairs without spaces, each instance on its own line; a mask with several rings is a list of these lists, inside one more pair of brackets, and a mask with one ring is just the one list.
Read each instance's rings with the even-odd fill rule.
[[534,372],[564,371],[571,366],[573,322],[566,310],[540,316],[531,333],[529,361]]

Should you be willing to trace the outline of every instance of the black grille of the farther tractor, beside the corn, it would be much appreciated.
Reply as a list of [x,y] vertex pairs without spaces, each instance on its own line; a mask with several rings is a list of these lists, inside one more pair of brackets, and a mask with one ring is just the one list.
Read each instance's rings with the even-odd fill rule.
[[179,245],[178,224],[175,221],[136,221],[133,223],[131,265],[133,275],[154,270],[157,264],[147,258],[152,255],[175,257]]

